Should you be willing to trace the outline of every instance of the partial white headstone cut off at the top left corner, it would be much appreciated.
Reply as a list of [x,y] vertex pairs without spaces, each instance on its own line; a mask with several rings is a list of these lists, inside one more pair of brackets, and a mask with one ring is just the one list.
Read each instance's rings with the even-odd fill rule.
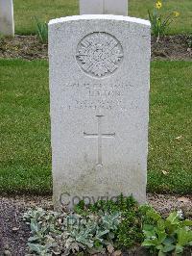
[[14,36],[12,0],[0,0],[0,34]]

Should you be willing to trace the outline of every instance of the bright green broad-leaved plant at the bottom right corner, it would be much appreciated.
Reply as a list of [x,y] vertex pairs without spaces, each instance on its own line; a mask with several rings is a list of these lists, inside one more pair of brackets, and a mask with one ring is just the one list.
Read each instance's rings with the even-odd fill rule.
[[145,240],[142,243],[158,256],[174,252],[180,254],[185,246],[192,245],[192,221],[182,219],[181,212],[174,212],[163,219],[152,208],[142,209],[143,233]]

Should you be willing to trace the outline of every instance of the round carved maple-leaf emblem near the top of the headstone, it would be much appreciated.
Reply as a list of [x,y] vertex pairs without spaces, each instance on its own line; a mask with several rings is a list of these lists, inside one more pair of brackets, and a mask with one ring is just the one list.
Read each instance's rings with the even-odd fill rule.
[[117,38],[96,32],[81,40],[76,58],[84,72],[102,78],[118,68],[123,59],[123,49]]

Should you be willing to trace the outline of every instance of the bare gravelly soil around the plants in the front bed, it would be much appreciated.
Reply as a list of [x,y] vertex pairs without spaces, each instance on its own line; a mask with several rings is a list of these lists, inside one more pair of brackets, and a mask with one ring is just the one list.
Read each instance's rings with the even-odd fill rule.
[[[192,218],[192,195],[148,194],[148,202],[162,215],[182,210],[186,218]],[[26,243],[30,237],[29,227],[22,221],[22,214],[29,208],[53,209],[51,196],[0,197],[0,255],[26,255]],[[192,255],[186,251],[183,255]],[[141,247],[124,255],[148,255]]]

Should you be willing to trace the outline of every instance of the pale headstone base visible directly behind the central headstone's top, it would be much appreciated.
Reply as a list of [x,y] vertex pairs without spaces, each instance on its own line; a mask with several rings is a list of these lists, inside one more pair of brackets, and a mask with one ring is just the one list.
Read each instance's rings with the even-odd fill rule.
[[80,0],[80,14],[128,15],[128,0]]

